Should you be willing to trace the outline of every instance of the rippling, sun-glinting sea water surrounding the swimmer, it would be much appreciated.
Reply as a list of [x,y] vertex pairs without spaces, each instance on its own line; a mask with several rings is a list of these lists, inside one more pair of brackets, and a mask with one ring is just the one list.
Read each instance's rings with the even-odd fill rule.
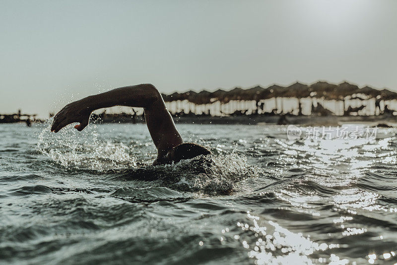
[[213,155],[151,166],[144,124],[0,125],[0,264],[393,264],[397,136],[178,124]]

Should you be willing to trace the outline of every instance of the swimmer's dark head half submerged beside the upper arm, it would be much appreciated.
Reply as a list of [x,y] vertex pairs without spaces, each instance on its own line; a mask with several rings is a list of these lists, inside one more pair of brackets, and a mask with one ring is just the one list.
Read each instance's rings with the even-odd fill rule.
[[177,145],[170,151],[168,151],[166,160],[167,163],[179,162],[184,159],[191,159],[197,157],[199,155],[210,155],[211,151],[202,145],[194,144],[194,143],[183,143]]

